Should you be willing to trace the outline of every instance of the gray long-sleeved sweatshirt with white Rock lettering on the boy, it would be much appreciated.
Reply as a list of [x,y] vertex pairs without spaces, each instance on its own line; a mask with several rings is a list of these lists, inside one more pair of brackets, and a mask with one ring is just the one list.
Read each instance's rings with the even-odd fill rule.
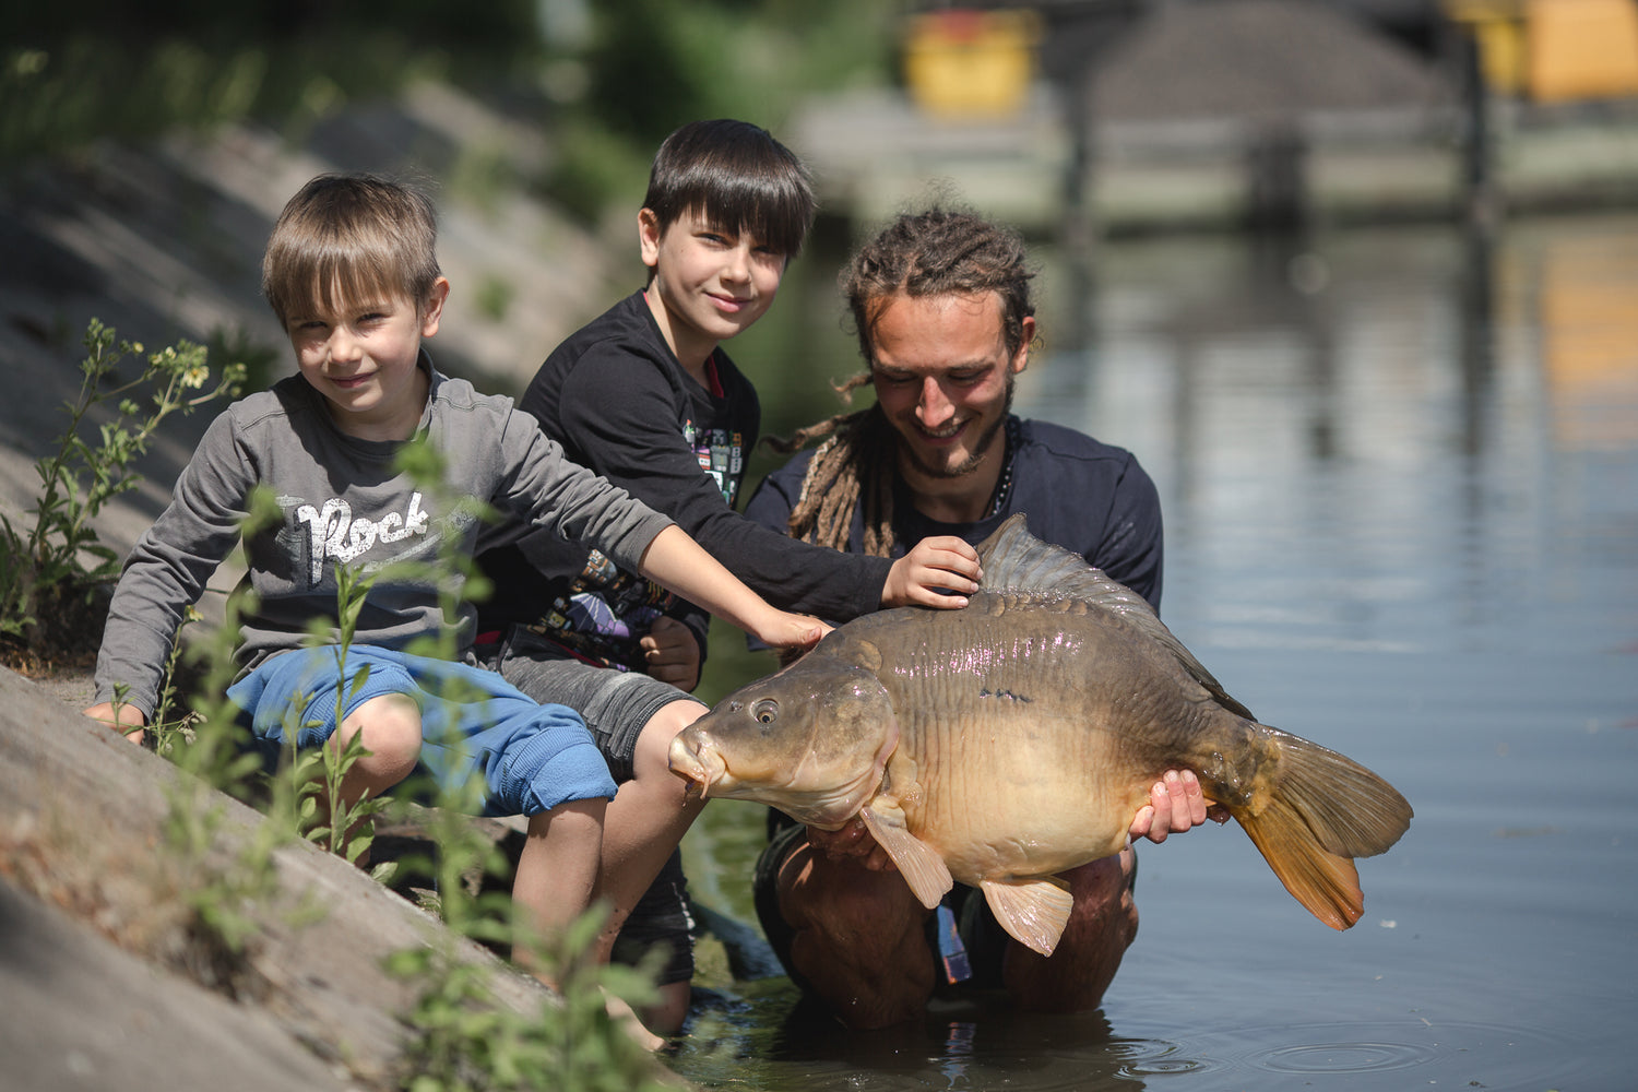
[[[115,684],[124,683],[124,701],[152,717],[183,611],[239,542],[251,490],[260,483],[275,493],[282,519],[246,540],[239,586],[254,589],[259,606],[241,619],[244,668],[300,647],[310,619],[334,625],[336,565],[369,573],[393,562],[431,563],[446,540],[457,555],[472,557],[542,527],[637,568],[670,519],[568,462],[509,398],[478,395],[465,380],[439,375],[424,352],[421,367],[432,386],[418,435],[446,460],[444,490],[485,501],[500,521],[482,524],[416,488],[393,468],[403,444],[341,432],[306,380],[282,380],[210,424],[177,478],[170,508],[126,558],[97,657],[93,701],[113,701]],[[464,578],[446,571],[442,580],[459,591]],[[464,604],[450,620],[465,650],[473,607]],[[403,648],[444,624],[436,584],[380,581],[352,640]]]

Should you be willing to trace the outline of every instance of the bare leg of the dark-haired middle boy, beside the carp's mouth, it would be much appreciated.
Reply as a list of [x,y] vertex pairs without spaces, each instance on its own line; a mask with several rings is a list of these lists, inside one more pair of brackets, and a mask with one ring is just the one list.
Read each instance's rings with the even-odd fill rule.
[[[670,769],[672,740],[698,720],[706,707],[696,701],[673,701],[649,719],[637,737],[634,776],[619,787],[603,824],[603,873],[598,897],[609,904],[609,917],[598,935],[598,954],[608,959],[626,918],[660,866],[688,833],[704,801],[690,801],[688,783]],[[683,1027],[690,1000],[688,982],[660,987],[660,1004],[644,1012],[644,1022],[665,1035]]]

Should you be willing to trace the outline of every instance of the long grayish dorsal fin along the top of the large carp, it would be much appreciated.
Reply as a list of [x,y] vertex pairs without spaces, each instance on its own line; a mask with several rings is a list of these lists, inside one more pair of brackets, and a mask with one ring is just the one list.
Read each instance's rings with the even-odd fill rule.
[[1093,568],[1079,553],[1042,542],[1029,532],[1024,512],[1007,517],[988,539],[978,544],[978,563],[984,570],[983,589],[1032,594],[1050,599],[1079,599],[1099,611],[1109,611],[1150,640],[1163,645],[1178,663],[1204,686],[1217,704],[1247,720],[1251,711],[1228,696],[1194,653],[1173,637],[1143,596],[1102,570]]

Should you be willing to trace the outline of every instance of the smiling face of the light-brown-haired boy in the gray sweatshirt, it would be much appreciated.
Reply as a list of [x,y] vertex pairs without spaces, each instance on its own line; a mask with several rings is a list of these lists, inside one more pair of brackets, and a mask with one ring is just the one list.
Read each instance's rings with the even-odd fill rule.
[[416,363],[421,339],[437,332],[449,296],[442,277],[416,306],[401,293],[314,300],[285,323],[301,377],[324,396],[336,426],[365,440],[406,440],[426,409],[428,377]]

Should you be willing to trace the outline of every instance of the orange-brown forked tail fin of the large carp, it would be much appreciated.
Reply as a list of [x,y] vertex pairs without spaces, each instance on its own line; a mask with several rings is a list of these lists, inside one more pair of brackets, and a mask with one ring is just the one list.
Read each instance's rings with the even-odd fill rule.
[[1307,910],[1343,930],[1364,914],[1356,856],[1374,856],[1410,825],[1394,786],[1333,750],[1266,729],[1278,774],[1256,814],[1232,809],[1279,882]]

